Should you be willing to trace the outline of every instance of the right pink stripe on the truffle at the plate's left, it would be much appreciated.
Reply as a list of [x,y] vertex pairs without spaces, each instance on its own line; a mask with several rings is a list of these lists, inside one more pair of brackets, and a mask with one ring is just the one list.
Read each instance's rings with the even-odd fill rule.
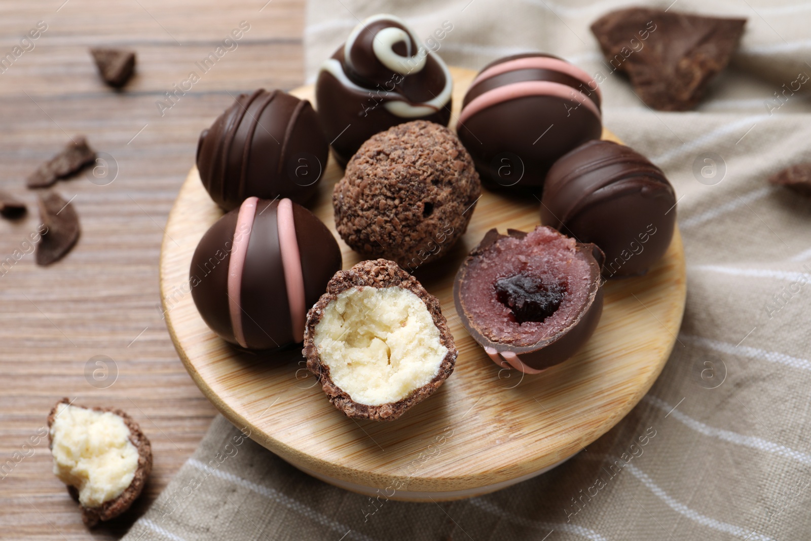
[[276,213],[279,232],[279,255],[287,284],[287,302],[290,307],[290,328],[296,341],[304,336],[304,319],[307,316],[307,304],[304,300],[304,273],[301,254],[298,252],[298,238],[293,217],[293,202],[289,199],[279,201]]

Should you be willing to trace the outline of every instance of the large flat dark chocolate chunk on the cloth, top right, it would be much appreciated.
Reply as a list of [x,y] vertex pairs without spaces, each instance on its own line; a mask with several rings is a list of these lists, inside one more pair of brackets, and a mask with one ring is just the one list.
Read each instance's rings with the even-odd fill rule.
[[638,96],[663,111],[693,108],[727,66],[746,19],[641,7],[611,11],[591,25],[612,70],[628,73]]

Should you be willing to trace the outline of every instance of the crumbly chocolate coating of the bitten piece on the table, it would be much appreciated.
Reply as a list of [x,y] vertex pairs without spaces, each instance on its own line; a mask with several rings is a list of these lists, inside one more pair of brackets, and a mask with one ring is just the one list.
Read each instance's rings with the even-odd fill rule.
[[[49,429],[51,425],[54,424],[54,419],[56,419],[59,404],[73,405],[70,398],[62,398],[62,400],[58,401],[48,414]],[[126,412],[116,410],[114,408],[86,409],[101,412],[109,411],[124,419],[124,424],[126,424],[127,428],[130,429],[130,442],[131,444],[135,445],[135,449],[138,449],[138,467],[135,470],[135,475],[132,478],[130,486],[127,487],[124,492],[119,494],[113,500],[105,501],[105,503],[99,507],[84,507],[84,505],[80,505],[82,509],[82,522],[84,522],[84,525],[88,526],[88,528],[92,528],[97,526],[100,521],[109,521],[109,519],[118,517],[118,515],[127,509],[130,509],[132,502],[134,502],[138,496],[140,496],[141,491],[144,490],[144,484],[147,482],[149,474],[152,472],[152,444],[149,442],[147,436],[144,436],[144,432],[141,432],[141,427],[138,423],[135,423],[135,419],[132,419],[129,415],[127,415]],[[53,447],[53,444],[54,442],[51,440],[49,430],[49,448]],[[68,486],[67,492],[74,500],[77,502],[79,501],[79,491],[75,487]]]

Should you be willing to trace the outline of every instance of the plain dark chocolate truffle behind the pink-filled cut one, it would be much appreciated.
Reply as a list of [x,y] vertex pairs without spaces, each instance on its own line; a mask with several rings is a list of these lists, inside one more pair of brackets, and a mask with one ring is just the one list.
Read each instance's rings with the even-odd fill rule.
[[645,273],[676,226],[676,193],[662,170],[633,149],[590,141],[547,175],[541,223],[605,252],[603,277]]

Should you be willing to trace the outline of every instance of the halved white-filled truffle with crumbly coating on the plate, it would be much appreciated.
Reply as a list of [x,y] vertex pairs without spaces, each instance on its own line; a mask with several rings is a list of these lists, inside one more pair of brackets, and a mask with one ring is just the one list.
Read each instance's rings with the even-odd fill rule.
[[457,358],[440,302],[387,260],[336,273],[307,313],[303,354],[333,406],[374,421],[429,397]]

